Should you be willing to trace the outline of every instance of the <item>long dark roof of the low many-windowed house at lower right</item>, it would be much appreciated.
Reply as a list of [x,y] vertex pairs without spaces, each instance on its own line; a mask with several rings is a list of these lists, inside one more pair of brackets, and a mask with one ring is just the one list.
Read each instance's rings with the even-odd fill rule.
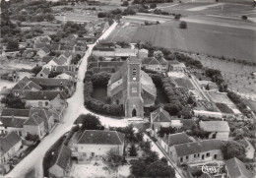
[[220,140],[204,140],[195,143],[187,143],[174,146],[177,156],[184,156],[194,153],[205,152],[214,149],[221,149],[223,142]]

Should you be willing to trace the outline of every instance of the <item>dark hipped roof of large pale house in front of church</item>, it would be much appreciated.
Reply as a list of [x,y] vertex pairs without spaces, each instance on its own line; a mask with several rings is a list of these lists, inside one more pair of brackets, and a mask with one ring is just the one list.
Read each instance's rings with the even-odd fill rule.
[[78,140],[78,144],[122,145],[124,137],[124,134],[116,131],[86,130]]

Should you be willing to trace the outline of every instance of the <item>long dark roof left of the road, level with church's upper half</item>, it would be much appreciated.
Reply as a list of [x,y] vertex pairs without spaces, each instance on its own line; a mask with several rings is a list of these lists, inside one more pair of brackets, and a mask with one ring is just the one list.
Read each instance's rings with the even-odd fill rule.
[[31,78],[32,82],[43,87],[73,86],[73,82],[67,79],[55,78]]

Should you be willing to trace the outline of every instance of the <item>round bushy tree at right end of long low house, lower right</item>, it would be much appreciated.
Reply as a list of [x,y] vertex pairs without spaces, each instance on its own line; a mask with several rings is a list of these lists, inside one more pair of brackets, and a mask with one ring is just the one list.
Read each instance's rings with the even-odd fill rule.
[[245,158],[245,148],[243,145],[235,141],[227,141],[222,146],[222,151],[224,153],[224,159],[230,159],[236,157],[240,160]]

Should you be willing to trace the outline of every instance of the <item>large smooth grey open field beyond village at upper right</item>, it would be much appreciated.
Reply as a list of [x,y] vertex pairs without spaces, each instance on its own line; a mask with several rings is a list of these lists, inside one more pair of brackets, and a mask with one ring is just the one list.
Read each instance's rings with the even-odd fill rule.
[[178,22],[153,26],[120,28],[109,40],[129,42],[150,41],[153,45],[174,50],[199,52],[255,62],[256,31],[188,23],[180,30]]

